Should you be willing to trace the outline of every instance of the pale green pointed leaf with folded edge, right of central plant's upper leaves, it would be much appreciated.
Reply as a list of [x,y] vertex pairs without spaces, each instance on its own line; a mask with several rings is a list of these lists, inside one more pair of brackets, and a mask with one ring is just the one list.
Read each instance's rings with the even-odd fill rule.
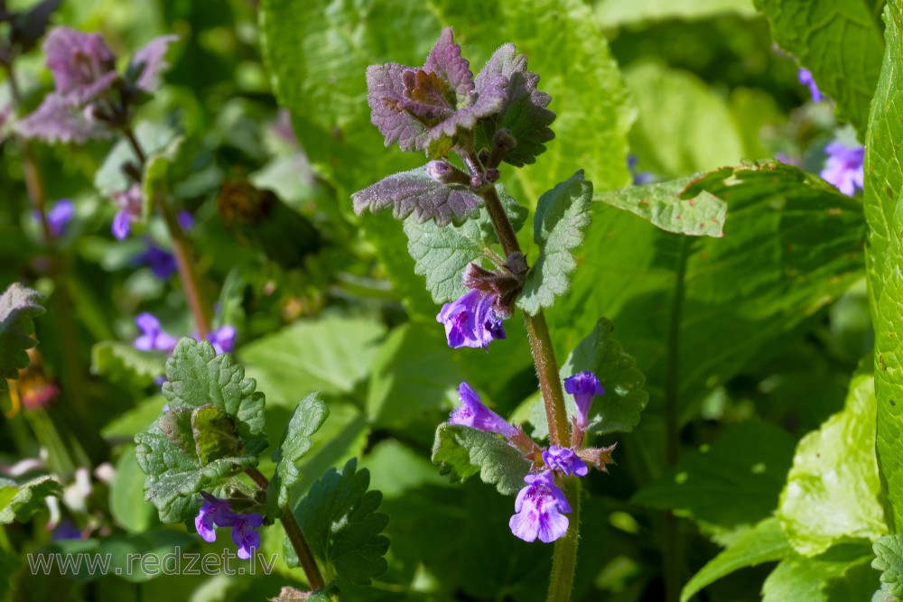
[[689,236],[724,236],[728,205],[703,190],[692,198],[684,189],[694,177],[597,193],[592,199],[637,214],[667,232]]

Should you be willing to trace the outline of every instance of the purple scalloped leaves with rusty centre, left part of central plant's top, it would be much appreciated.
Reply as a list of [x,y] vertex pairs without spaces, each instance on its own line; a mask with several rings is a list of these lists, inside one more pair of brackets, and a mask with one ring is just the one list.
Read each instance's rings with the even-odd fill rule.
[[479,92],[470,63],[461,57],[452,28],[446,27],[422,69],[397,63],[367,69],[371,121],[403,151],[448,154],[459,130],[472,131],[481,119],[498,113],[506,100],[507,79],[493,75]]

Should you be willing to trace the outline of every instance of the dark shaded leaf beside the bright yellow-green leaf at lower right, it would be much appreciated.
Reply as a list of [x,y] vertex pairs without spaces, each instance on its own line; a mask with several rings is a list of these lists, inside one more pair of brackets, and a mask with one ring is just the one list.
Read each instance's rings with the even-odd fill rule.
[[793,449],[793,438],[767,422],[733,424],[711,446],[684,455],[633,501],[720,527],[758,523],[777,506]]

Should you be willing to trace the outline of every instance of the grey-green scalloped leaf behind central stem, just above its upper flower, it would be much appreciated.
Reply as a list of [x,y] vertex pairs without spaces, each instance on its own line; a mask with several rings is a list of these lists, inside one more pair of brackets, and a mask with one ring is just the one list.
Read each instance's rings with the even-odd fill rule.
[[[526,221],[527,209],[518,205],[502,185],[498,186],[498,197],[515,231],[519,231]],[[464,268],[470,262],[478,262],[483,250],[498,242],[485,211],[461,226],[440,227],[411,216],[405,219],[405,234],[408,253],[414,258],[414,272],[426,277],[426,288],[437,303],[454,301],[468,292],[463,282]]]

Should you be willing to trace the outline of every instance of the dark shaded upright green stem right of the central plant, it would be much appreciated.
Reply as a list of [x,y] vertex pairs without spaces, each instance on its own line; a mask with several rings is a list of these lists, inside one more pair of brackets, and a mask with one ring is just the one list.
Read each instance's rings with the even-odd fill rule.
[[[671,301],[671,323],[668,325],[668,364],[665,385],[665,438],[668,466],[674,466],[680,454],[680,326],[684,310],[686,263],[690,255],[690,243],[683,237],[677,241],[676,282]],[[664,559],[666,602],[678,602],[681,590],[681,542],[677,517],[666,513]]]

